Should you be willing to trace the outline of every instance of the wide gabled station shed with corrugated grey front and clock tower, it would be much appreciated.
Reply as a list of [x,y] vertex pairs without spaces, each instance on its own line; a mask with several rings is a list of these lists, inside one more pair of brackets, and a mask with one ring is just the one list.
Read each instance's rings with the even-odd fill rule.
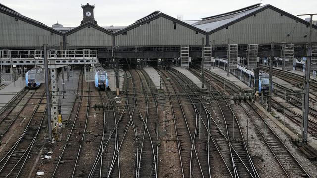
[[[259,44],[259,57],[268,56],[271,43],[275,55],[282,44],[295,44],[295,54],[303,56],[310,23],[272,5],[255,4],[201,20],[181,21],[160,11],[136,20],[127,27],[101,27],[94,18],[94,5],[82,5],[78,27],[52,27],[28,18],[0,4],[0,49],[35,50],[43,44],[53,49],[96,49],[106,66],[113,59],[120,65],[135,66],[137,60],[156,65],[158,59],[171,63],[180,57],[180,46],[189,45],[192,60],[202,57],[202,45],[211,44],[213,55],[226,56],[227,44],[238,44],[245,57],[247,44]],[[211,12],[212,13],[212,12]],[[313,25],[312,42],[317,42]],[[152,63],[152,64],[151,64]]]

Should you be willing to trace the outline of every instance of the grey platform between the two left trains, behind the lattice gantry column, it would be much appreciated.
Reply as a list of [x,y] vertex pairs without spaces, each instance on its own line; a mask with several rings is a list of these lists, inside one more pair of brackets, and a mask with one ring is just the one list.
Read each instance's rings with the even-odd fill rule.
[[65,121],[69,118],[71,108],[73,103],[76,100],[76,96],[80,94],[80,91],[77,92],[78,82],[79,82],[79,75],[80,75],[80,68],[75,68],[73,71],[69,72],[69,80],[67,81],[67,72],[64,72],[64,83],[62,74],[59,75],[57,86],[59,91],[63,90],[63,85],[66,93],[60,94],[60,105],[61,107],[61,115],[62,120]]

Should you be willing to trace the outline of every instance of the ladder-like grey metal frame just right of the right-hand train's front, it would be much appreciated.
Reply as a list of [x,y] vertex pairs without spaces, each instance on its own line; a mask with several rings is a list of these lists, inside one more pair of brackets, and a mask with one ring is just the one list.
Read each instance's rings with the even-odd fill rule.
[[282,69],[290,71],[293,69],[294,60],[294,44],[283,44],[282,45]]

